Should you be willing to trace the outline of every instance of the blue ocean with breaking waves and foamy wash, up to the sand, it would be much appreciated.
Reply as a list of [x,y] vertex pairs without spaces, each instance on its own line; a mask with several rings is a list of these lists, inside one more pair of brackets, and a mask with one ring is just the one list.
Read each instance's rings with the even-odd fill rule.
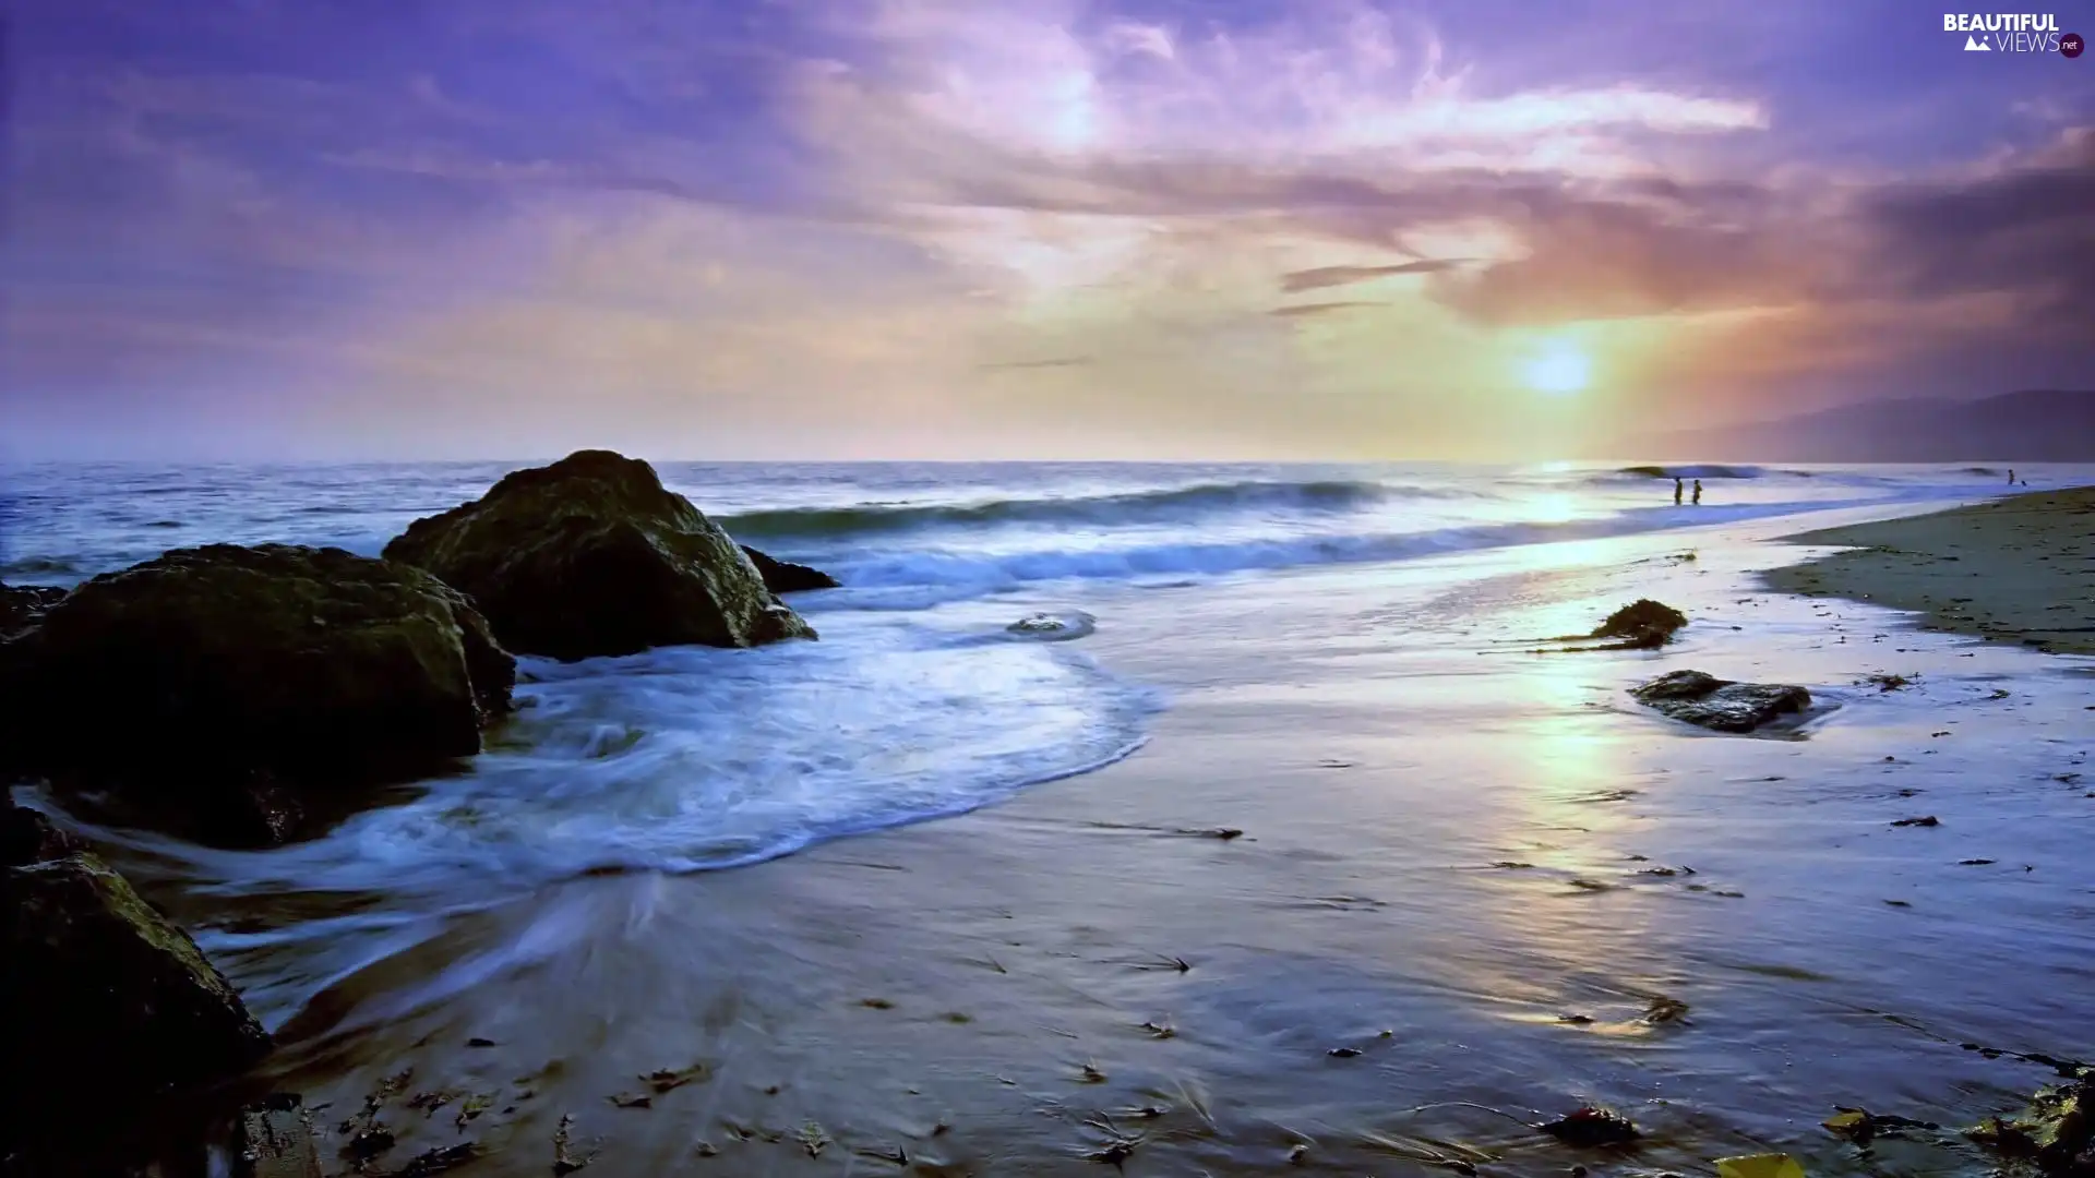
[[[520,465],[17,470],[0,581],[69,585],[197,543],[377,555]],[[509,885],[742,866],[1129,752],[1159,700],[1060,641],[1091,631],[1100,595],[2005,490],[1990,467],[1676,465],[1705,486],[1676,507],[1651,470],[662,463],[735,539],[844,583],[796,599],[823,639],[526,660],[522,715],[473,776],[277,857],[287,885],[341,889],[467,864]],[[1041,595],[1064,629],[1012,635],[1033,610],[999,602]]]

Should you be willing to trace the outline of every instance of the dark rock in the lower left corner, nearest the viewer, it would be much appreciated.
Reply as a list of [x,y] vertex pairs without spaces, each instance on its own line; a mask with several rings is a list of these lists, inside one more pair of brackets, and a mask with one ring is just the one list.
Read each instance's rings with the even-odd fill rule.
[[4,868],[8,1098],[78,1121],[239,1075],[270,1038],[195,941],[92,853]]

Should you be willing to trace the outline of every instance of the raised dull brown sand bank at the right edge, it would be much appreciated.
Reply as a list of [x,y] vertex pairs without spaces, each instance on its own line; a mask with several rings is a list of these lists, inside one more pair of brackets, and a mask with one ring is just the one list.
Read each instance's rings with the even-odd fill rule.
[[1785,593],[1925,614],[1927,629],[2095,654],[2095,486],[1785,537],[1846,551],[1768,572]]

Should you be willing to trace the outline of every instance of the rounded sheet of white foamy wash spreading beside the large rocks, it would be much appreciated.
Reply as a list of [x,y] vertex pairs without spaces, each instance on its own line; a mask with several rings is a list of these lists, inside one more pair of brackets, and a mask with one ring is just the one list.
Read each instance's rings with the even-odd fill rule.
[[809,643],[526,669],[517,719],[469,776],[314,843],[191,851],[210,891],[457,895],[752,864],[1112,761],[1148,711],[1066,643],[955,643],[867,614]]

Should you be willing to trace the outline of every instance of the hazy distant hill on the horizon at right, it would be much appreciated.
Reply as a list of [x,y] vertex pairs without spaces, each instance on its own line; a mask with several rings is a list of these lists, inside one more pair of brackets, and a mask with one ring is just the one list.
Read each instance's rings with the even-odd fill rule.
[[1867,400],[1779,421],[1647,436],[1636,453],[1793,463],[2095,461],[2095,390]]

